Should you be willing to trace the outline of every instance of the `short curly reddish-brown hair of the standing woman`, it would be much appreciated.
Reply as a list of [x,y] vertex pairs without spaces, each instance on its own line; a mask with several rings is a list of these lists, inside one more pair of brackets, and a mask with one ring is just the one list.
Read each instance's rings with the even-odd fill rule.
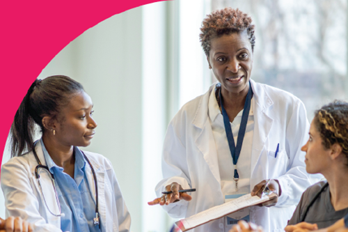
[[248,39],[251,43],[251,49],[254,51],[255,46],[255,25],[251,24],[253,20],[247,14],[242,13],[230,7],[222,10],[215,10],[207,15],[200,28],[200,44],[207,56],[210,51],[210,41],[217,36],[229,35],[230,33],[246,30]]

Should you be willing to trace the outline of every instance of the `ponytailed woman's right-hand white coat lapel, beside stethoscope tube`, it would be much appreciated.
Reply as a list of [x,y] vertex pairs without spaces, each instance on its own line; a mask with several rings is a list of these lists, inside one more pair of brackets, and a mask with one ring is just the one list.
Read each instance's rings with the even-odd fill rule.
[[[86,153],[85,153],[86,154]],[[87,156],[87,155],[86,155]],[[105,173],[102,167],[100,167],[97,162],[94,162],[89,156],[88,160],[90,160],[90,164],[92,164],[93,169],[95,171],[95,176],[97,176],[97,187],[98,187],[98,210],[100,213],[100,219],[103,224],[106,224],[106,202],[105,202]],[[92,197],[94,202],[96,203],[96,194],[95,194],[95,179],[93,176],[92,169],[90,169],[90,165],[86,161],[86,177],[88,180],[88,186],[90,187],[90,192],[92,193]],[[94,210],[94,209],[93,209]]]

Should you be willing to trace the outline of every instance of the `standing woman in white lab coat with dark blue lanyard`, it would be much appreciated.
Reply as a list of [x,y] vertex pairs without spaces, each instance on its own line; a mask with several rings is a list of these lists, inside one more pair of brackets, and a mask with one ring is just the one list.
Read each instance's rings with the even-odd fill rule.
[[[200,42],[219,83],[180,109],[168,125],[162,156],[164,179],[156,187],[172,217],[189,217],[243,194],[269,187],[278,198],[193,229],[228,231],[238,219],[283,231],[306,188],[302,144],[308,139],[306,109],[294,95],[251,80],[255,26],[240,10],[207,15]],[[177,190],[196,188],[196,192]],[[161,194],[164,190],[173,194]],[[270,207],[273,206],[273,207]]]

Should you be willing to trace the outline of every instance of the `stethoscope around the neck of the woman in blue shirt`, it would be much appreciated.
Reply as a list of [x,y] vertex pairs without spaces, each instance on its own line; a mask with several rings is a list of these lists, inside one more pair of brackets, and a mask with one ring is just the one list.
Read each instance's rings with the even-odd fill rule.
[[[64,217],[64,213],[62,213],[61,211],[61,203],[59,203],[59,199],[58,199],[58,194],[57,194],[57,191],[56,191],[56,183],[54,181],[54,175],[49,171],[48,167],[45,166],[45,165],[42,165],[40,160],[39,160],[39,157],[38,157],[38,154],[36,154],[36,151],[35,151],[35,145],[38,141],[35,141],[34,144],[33,144],[33,154],[35,156],[35,160],[38,162],[38,166],[35,167],[35,177],[36,179],[38,179],[38,183],[39,183],[39,186],[40,186],[40,190],[42,192],[42,196],[43,196],[43,199],[45,201],[45,205],[47,207],[47,209],[49,210],[49,212],[56,216],[56,217]],[[98,186],[97,186],[97,176],[95,176],[95,171],[93,169],[93,166],[92,164],[90,163],[90,161],[88,160],[87,156],[85,155],[85,153],[81,150],[81,153],[84,155],[84,158],[87,160],[89,166],[90,166],[90,169],[92,169],[92,173],[93,173],[93,178],[94,178],[94,183],[95,183],[95,218],[93,218],[93,225],[94,226],[97,226],[99,225],[99,229],[100,229],[100,214],[99,214],[99,210],[98,210]],[[40,182],[40,174],[39,174],[39,169],[45,169],[50,175],[51,175],[51,181],[52,181],[52,185],[53,185],[53,189],[54,189],[54,194],[56,194],[56,203],[57,203],[57,206],[59,208],[59,214],[56,215],[54,214],[48,207],[47,205],[47,202],[46,202],[46,199],[45,199],[45,194],[44,192],[42,191],[42,186],[41,186],[41,182]]]

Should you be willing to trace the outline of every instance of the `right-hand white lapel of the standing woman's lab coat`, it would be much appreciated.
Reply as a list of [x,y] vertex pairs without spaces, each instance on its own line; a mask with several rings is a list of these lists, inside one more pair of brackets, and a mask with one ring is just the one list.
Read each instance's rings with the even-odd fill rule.
[[264,144],[271,130],[273,124],[273,118],[267,114],[267,109],[273,105],[271,98],[264,91],[261,84],[256,84],[251,80],[251,87],[253,88],[253,104],[254,111],[254,135],[253,135],[253,150],[251,152],[251,176],[258,164],[259,157],[264,149]]

